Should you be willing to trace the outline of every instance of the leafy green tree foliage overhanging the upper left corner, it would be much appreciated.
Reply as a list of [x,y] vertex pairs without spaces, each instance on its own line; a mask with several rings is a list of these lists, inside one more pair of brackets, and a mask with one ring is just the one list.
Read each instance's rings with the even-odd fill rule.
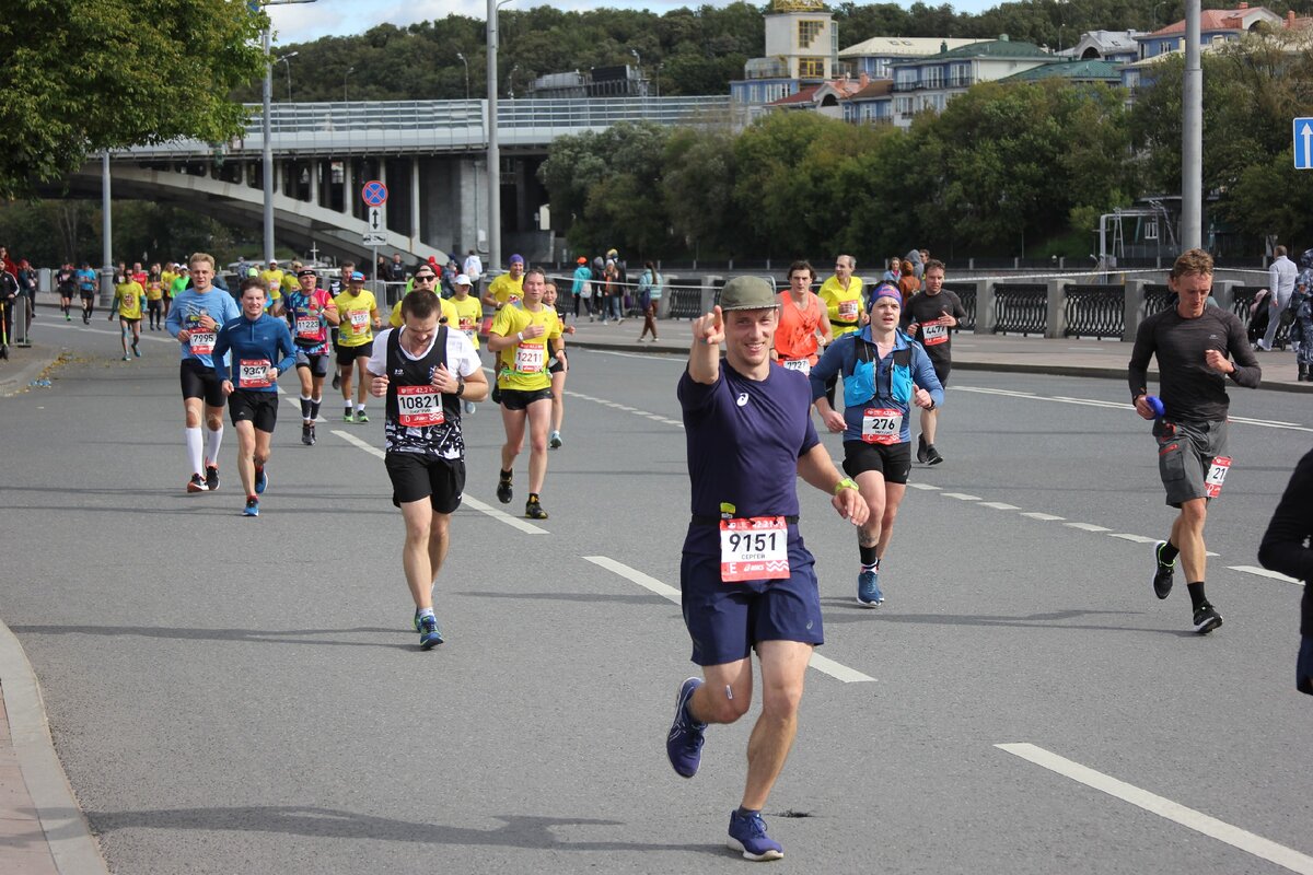
[[[13,4],[11,4],[13,5]],[[244,123],[228,98],[263,70],[263,13],[228,0],[18,0],[0,17],[0,195],[29,193],[92,152]]]

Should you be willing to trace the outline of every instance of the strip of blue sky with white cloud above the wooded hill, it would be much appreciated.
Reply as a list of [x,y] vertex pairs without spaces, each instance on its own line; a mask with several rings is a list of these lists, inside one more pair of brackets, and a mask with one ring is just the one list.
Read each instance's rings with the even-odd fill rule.
[[[927,1],[937,5],[936,0]],[[958,12],[979,12],[998,5],[998,1],[960,0],[953,3],[953,8]],[[513,3],[517,9],[537,5],[553,5],[558,9],[608,7],[613,9],[650,9],[656,14],[681,7],[696,9],[701,5],[729,5],[723,0],[712,0],[709,4],[697,0],[684,0],[683,3],[674,0],[601,0],[600,3],[551,0],[550,4],[544,4],[542,0],[513,0]],[[361,34],[383,22],[404,26],[416,21],[441,20],[453,13],[482,20],[487,16],[487,8],[486,0],[318,0],[309,4],[268,7],[280,43],[305,42],[327,35]]]

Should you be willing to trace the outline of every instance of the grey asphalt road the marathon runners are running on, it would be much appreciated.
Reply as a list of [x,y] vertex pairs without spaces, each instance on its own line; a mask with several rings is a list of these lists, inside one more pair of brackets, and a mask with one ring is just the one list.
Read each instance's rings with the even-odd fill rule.
[[[315,447],[284,404],[247,519],[231,426],[222,489],[184,493],[172,342],[147,335],[123,363],[117,331],[92,328],[50,328],[76,359],[0,401],[0,617],[113,871],[737,865],[722,842],[750,723],[713,728],[691,782],[662,744],[693,673],[667,597],[688,514],[681,359],[574,353],[541,523],[496,513],[500,422],[490,405],[467,420],[448,641],[424,653],[365,449],[378,401],[369,425],[326,403]],[[878,611],[853,603],[851,526],[802,487],[827,643],[765,812],[775,870],[1313,871],[1302,589],[1236,569],[1257,565],[1313,411],[1232,397],[1267,425],[1232,429],[1208,526],[1225,626],[1207,638],[1183,581],[1150,590],[1136,538],[1165,537],[1171,512],[1124,382],[957,375],[948,460],[914,471]],[[521,460],[512,514],[525,481]]]

